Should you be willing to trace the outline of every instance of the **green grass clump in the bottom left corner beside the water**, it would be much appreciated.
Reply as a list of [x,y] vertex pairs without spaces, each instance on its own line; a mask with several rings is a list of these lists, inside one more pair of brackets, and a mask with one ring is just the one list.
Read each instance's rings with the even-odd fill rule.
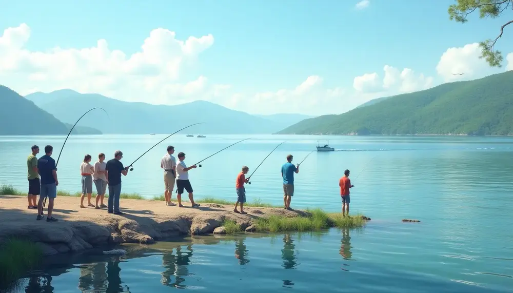
[[19,239],[8,239],[0,244],[0,284],[9,286],[27,270],[35,268],[43,257],[41,249],[34,243]]

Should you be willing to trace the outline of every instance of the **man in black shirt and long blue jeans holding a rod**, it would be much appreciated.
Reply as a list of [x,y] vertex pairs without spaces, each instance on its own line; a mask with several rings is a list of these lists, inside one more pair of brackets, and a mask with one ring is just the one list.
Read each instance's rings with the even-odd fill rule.
[[107,204],[108,213],[123,214],[120,211],[121,195],[121,174],[127,175],[128,167],[123,167],[120,160],[123,158],[123,152],[116,150],[114,159],[107,161],[105,166],[105,176],[109,185],[109,202]]

